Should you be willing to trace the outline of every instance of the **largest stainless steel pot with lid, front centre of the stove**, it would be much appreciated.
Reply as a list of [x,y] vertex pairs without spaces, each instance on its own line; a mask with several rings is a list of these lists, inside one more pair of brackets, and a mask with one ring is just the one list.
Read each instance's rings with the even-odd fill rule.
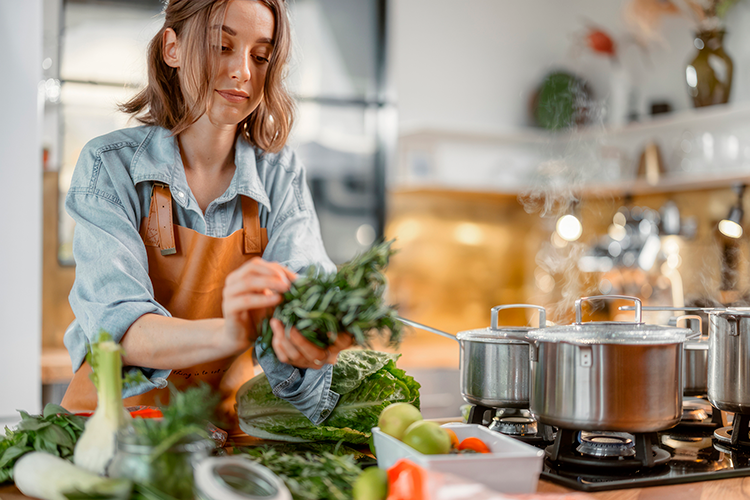
[[[592,299],[635,302],[635,321],[582,322]],[[529,332],[531,413],[565,429],[654,432],[682,416],[682,343],[688,330],[642,323],[641,301],[576,301],[573,325]]]

